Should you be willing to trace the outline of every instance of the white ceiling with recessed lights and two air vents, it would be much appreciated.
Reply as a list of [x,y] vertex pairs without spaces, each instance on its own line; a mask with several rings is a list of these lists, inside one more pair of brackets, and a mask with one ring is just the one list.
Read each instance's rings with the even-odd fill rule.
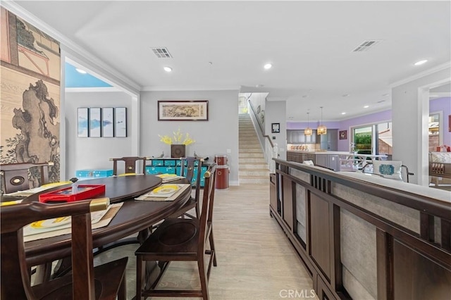
[[[320,106],[326,121],[388,109],[391,85],[451,57],[450,1],[17,4],[142,90],[268,92],[287,100],[287,120],[306,120],[307,110],[319,120]],[[352,52],[366,40],[382,42]],[[157,58],[160,46],[173,58]]]

